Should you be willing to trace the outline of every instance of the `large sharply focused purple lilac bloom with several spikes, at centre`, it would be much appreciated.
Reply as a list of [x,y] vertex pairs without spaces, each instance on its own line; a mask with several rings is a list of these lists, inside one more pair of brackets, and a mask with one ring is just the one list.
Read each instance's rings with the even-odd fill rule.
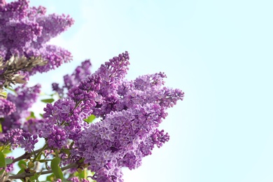
[[[164,87],[164,73],[125,80],[128,60],[128,52],[113,57],[73,85],[67,98],[44,109],[41,136],[48,141],[62,136],[73,140],[69,160],[83,158],[98,182],[123,181],[122,167],[139,167],[154,146],[169,141],[169,134],[157,128],[167,116],[166,109],[183,99],[181,90]],[[83,122],[91,114],[101,121]],[[64,146],[66,142],[50,143],[54,148]]]

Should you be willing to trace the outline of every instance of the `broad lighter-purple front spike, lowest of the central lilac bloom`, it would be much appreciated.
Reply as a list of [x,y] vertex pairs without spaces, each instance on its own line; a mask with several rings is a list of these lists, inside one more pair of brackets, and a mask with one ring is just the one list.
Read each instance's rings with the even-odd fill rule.
[[158,104],[135,105],[111,112],[102,122],[85,128],[77,141],[75,154],[83,156],[88,169],[97,172],[93,179],[122,181],[122,167],[135,169],[156,143],[149,137],[165,117]]

